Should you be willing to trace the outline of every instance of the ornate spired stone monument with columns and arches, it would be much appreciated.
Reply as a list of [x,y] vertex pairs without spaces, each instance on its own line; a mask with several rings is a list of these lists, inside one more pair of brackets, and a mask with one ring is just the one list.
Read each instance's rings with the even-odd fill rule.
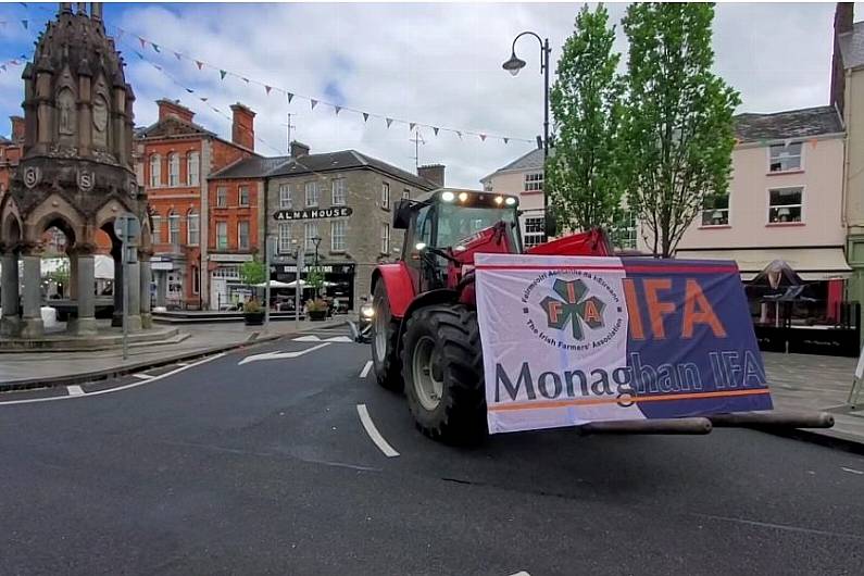
[[[78,336],[97,331],[93,253],[98,230],[112,239],[116,321],[122,314],[124,283],[113,223],[124,213],[137,215],[142,224],[139,261],[127,268],[129,329],[149,327],[150,228],[147,198],[133,165],[135,96],[123,68],[97,2],[89,4],[89,13],[84,2],[77,3],[77,10],[62,2],[57,18],[36,42],[33,62],[24,68],[24,150],[0,203],[2,336],[43,337],[40,254],[43,233],[52,226],[66,236],[70,285],[77,301],[67,331]],[[23,261],[23,281],[18,260]]]

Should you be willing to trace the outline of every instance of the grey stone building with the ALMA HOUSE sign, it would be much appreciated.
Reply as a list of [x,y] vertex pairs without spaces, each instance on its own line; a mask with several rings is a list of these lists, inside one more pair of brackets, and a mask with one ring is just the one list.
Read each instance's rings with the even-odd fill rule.
[[356,309],[370,292],[373,268],[402,248],[401,230],[392,229],[396,203],[444,184],[440,164],[417,173],[356,150],[311,154],[291,142],[288,160],[266,174],[264,234],[277,245],[271,278],[296,279],[298,248],[306,265],[317,253],[327,295],[340,308]]

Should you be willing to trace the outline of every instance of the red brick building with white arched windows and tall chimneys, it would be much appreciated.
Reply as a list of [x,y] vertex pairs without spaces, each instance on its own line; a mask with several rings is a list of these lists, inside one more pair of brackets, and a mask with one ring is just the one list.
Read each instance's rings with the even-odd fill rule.
[[[155,305],[210,308],[208,267],[215,264],[210,261],[208,239],[216,233],[211,229],[216,214],[211,210],[208,178],[255,156],[255,114],[242,104],[233,105],[228,141],[196,124],[195,113],[178,102],[163,99],[156,104],[156,123],[136,135],[136,172],[147,189],[152,218]],[[230,208],[220,206],[220,222],[228,217],[251,222],[256,218],[252,211],[252,205],[239,205],[235,195]]]

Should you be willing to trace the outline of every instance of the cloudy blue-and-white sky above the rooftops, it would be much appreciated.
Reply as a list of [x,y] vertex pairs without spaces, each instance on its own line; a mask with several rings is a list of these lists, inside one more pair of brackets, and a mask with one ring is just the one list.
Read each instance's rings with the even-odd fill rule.
[[[30,55],[55,4],[0,5],[0,61]],[[517,54],[528,66],[516,77],[501,70],[513,37],[530,29],[549,37],[552,58],[573,32],[579,3],[510,4],[107,4],[109,33],[127,30],[120,47],[137,93],[136,123],[156,117],[155,100],[179,99],[196,121],[230,137],[230,113],[240,101],[258,112],[259,152],[285,153],[287,114],[292,136],[313,152],[353,148],[406,170],[414,166],[409,126],[295,98],[247,84],[174,52],[251,80],[322,102],[433,126],[501,135],[509,143],[424,129],[421,163],[447,165],[448,184],[476,188],[486,174],[530,150],[515,139],[542,130],[539,48],[523,38]],[[613,22],[625,4],[609,4]],[[716,72],[740,90],[739,111],[772,112],[827,103],[832,3],[719,4],[714,23]],[[856,16],[861,17],[856,5]],[[22,24],[27,21],[27,27]],[[626,52],[618,26],[616,48]],[[135,36],[160,47],[141,49]],[[134,52],[141,52],[140,60]],[[149,61],[149,62],[148,62]],[[160,72],[152,64],[161,66]],[[0,73],[0,114],[21,113],[21,67]],[[554,70],[554,68],[553,68]],[[167,75],[165,74],[167,73]],[[170,75],[170,76],[168,76]],[[172,79],[173,78],[173,79]],[[176,80],[176,82],[175,82]],[[179,84],[179,85],[178,85]],[[186,88],[195,90],[189,93]],[[200,98],[206,98],[206,103]],[[8,134],[8,123],[0,134]]]

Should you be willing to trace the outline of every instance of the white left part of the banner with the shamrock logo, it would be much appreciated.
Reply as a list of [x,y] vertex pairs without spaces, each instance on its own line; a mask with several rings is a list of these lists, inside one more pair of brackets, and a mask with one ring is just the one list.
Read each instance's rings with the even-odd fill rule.
[[615,378],[627,363],[621,259],[478,254],[475,264],[490,434],[646,417]]

